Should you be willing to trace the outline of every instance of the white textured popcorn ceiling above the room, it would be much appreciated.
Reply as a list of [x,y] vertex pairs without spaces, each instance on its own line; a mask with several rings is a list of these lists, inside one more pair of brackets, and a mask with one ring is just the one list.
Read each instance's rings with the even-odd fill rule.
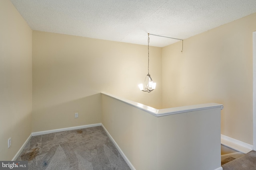
[[[147,45],[186,39],[256,12],[256,0],[11,0],[33,30]],[[150,35],[150,46],[177,40]]]

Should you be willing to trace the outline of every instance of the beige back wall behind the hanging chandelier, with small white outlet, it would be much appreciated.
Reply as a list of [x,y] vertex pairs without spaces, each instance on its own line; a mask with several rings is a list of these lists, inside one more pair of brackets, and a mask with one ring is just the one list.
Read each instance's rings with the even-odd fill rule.
[[145,45],[33,31],[32,49],[33,132],[101,123],[100,92],[162,106],[161,48],[150,47],[157,82],[150,94],[138,88],[148,70]]

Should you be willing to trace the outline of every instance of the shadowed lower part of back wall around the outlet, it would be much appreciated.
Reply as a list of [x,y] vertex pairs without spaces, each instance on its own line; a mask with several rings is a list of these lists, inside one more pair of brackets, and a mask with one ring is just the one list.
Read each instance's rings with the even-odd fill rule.
[[33,110],[32,132],[101,123],[101,112],[101,93]]

